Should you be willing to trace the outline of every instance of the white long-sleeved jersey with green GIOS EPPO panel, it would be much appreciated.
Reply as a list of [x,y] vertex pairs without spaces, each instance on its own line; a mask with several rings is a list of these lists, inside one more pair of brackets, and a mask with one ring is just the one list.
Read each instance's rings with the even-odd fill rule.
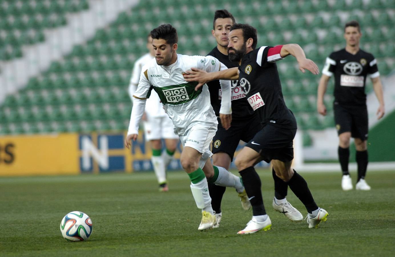
[[[212,56],[188,56],[177,54],[177,61],[164,67],[156,64],[152,59],[141,72],[139,85],[133,97],[139,100],[150,98],[152,89],[158,94],[164,109],[173,121],[174,132],[184,135],[188,126],[193,123],[204,123],[217,126],[218,121],[210,102],[210,93],[207,85],[195,91],[197,82],[187,82],[182,73],[190,68],[198,68],[207,72],[216,72],[226,69],[218,59]],[[220,81],[222,87],[222,103],[220,113],[231,113],[231,85],[230,81]],[[225,93],[225,96],[224,96]],[[136,101],[135,102],[139,102]],[[143,105],[143,101],[141,104]],[[128,134],[138,133],[138,124],[141,119],[141,108],[132,109]],[[147,102],[146,110],[150,106]]]

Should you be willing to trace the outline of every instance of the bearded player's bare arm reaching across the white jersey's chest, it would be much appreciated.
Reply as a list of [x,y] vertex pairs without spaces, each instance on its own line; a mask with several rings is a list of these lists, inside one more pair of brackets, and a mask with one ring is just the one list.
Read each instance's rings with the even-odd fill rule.
[[212,81],[212,80],[217,80],[217,79],[222,79],[222,80],[235,80],[239,79],[239,68],[230,68],[226,70],[220,70],[218,72],[206,72],[205,70],[200,70],[197,68],[191,68],[190,70],[187,70],[186,73],[182,74],[184,76],[185,81],[197,81],[199,82],[198,85],[196,85],[195,90],[198,90],[201,86],[203,86],[205,83]]

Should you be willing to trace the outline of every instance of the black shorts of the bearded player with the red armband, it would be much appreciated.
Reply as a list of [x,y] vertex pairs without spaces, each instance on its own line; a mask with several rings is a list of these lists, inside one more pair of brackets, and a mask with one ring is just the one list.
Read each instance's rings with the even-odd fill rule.
[[260,153],[263,161],[267,163],[271,160],[280,160],[285,163],[293,160],[295,134],[296,128],[278,128],[268,124],[246,146]]

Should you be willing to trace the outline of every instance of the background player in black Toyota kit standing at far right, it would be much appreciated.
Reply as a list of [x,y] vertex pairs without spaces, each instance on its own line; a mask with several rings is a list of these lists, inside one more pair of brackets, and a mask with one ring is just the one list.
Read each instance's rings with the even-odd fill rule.
[[373,55],[359,49],[361,29],[357,21],[350,21],[344,26],[346,48],[333,52],[327,57],[322,77],[318,85],[317,110],[326,115],[324,94],[328,81],[335,74],[335,101],[333,110],[335,124],[339,135],[339,162],[343,172],[342,189],[351,190],[352,181],[348,172],[350,158],[350,138],[354,138],[356,162],[358,170],[358,190],[370,190],[365,181],[368,165],[367,137],[368,113],[366,106],[365,81],[369,76],[372,79],[374,93],[376,93],[380,106],[377,110],[378,119],[384,115],[384,97],[377,69],[376,59]]

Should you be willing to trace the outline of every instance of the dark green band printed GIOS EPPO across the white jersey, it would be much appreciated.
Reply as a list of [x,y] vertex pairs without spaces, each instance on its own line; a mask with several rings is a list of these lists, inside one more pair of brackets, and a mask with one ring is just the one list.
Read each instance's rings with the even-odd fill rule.
[[154,86],[154,90],[156,93],[158,93],[162,104],[177,105],[189,102],[190,100],[193,100],[199,96],[202,88],[200,88],[198,91],[195,91],[196,85],[198,85],[198,82],[188,82],[185,84],[171,85],[167,87]]

